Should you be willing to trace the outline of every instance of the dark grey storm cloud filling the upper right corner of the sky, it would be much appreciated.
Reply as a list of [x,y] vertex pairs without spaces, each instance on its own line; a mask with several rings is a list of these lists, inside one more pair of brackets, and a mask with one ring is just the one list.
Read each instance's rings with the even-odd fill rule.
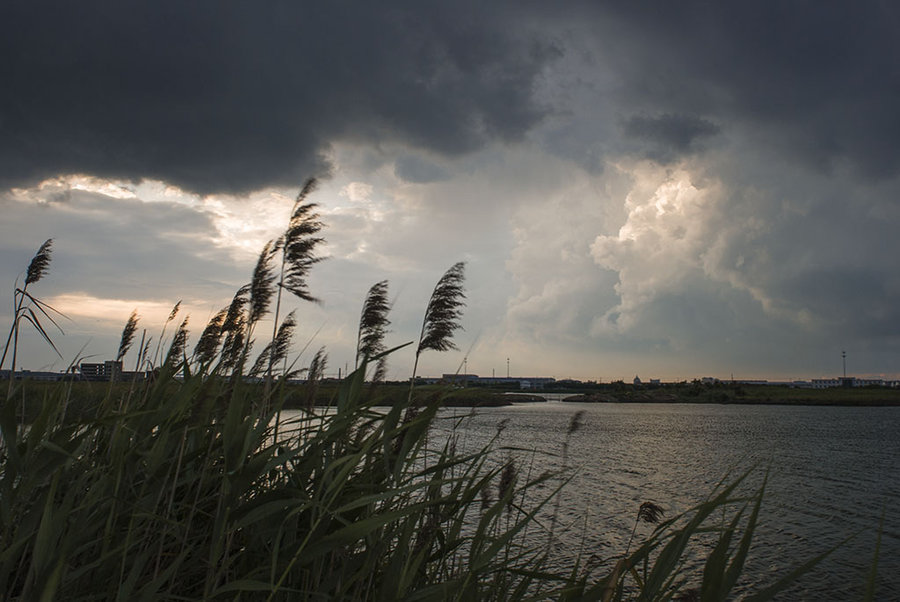
[[585,5],[631,111],[754,128],[827,172],[900,173],[900,6],[890,2]]

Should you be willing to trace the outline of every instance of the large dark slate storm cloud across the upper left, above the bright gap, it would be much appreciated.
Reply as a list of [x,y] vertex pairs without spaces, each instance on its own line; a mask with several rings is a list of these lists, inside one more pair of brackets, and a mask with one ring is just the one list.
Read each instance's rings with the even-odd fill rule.
[[541,117],[552,45],[468,3],[6,2],[0,185],[294,185],[334,140],[454,155]]

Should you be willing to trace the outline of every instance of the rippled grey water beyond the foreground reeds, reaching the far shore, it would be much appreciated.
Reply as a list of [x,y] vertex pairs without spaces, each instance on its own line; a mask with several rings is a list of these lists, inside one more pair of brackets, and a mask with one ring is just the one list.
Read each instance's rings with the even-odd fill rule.
[[[579,410],[583,424],[564,460]],[[860,599],[884,512],[876,599],[900,599],[900,408],[525,403],[478,410],[463,421],[461,444],[483,444],[502,421],[501,445],[540,452],[515,452],[520,471],[532,462],[534,474],[578,468],[560,498],[560,525],[570,526],[561,564],[582,541],[586,556],[621,554],[644,501],[670,517],[703,501],[729,472],[758,466],[750,485],[766,469],[769,480],[739,593],[852,537],[781,599]]]

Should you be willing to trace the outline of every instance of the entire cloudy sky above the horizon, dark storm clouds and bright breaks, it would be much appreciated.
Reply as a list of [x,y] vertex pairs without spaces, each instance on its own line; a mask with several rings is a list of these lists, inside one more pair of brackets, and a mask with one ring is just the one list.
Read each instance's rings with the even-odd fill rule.
[[897,31],[874,0],[8,0],[0,324],[52,238],[30,291],[62,357],[26,329],[21,366],[108,359],[179,300],[190,346],[317,177],[300,365],[352,366],[383,279],[387,343],[415,340],[465,261],[459,350],[419,374],[820,378],[846,351],[895,378]]

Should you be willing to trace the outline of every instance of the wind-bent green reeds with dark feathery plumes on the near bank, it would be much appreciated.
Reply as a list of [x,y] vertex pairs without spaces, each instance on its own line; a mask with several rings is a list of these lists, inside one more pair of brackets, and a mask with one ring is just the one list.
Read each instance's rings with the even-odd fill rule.
[[[295,218],[314,219],[303,207],[295,207],[292,228]],[[314,407],[326,391],[320,382],[324,352],[315,354],[302,388],[288,385],[302,372],[287,358],[293,313],[280,324],[276,319],[272,339],[248,367],[254,327],[273,298],[279,303],[276,282],[278,291],[312,299],[304,278],[318,261],[312,255],[318,231],[301,228],[266,245],[252,282],[210,320],[190,355],[186,318],[165,346],[163,328],[152,357],[145,331],[136,364],[152,369],[150,379],[93,383],[87,389],[93,395],[79,397],[85,389],[71,382],[35,387],[11,376],[0,399],[0,597],[606,601],[729,595],[750,548],[764,483],[747,492],[746,475],[738,477],[665,521],[661,508],[644,505],[635,526],[655,528],[634,551],[629,544],[621,556],[599,564],[579,557],[565,573],[550,570],[568,475],[520,470],[514,455],[498,459],[503,450],[493,442],[468,452],[456,448],[452,435],[429,438],[446,397],[414,387],[414,379],[406,395],[376,408],[386,398],[367,371],[399,349],[385,351],[380,340],[388,324],[386,284],[370,291],[358,367],[328,392],[332,410]],[[273,267],[279,251],[280,271]],[[462,264],[439,280],[416,360],[425,350],[452,348],[462,285]],[[21,316],[36,315],[21,313],[23,298],[36,302],[24,288],[16,297],[7,345],[13,356],[18,322],[29,320]],[[176,305],[166,326],[178,311]],[[120,357],[136,335],[137,319],[133,314],[126,324]],[[252,374],[258,378],[250,382]],[[20,398],[17,416],[14,400]],[[280,422],[289,402],[300,411]],[[564,465],[577,427],[576,415],[562,442]],[[690,580],[685,559],[698,540],[711,551],[702,575]],[[810,566],[751,599],[770,598]]]

